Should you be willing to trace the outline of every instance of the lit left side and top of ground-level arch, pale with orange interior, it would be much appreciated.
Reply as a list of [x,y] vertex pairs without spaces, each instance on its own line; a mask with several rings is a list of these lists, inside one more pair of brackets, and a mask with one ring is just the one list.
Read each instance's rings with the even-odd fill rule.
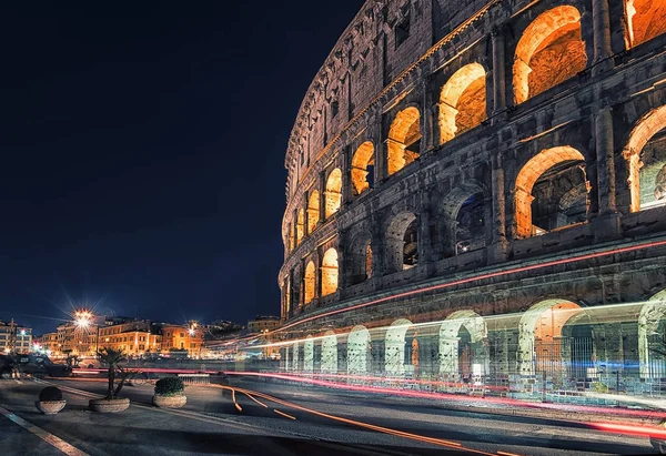
[[552,298],[534,304],[521,316],[518,369],[522,375],[534,375],[544,358],[548,364],[552,359],[562,359],[561,348],[554,341],[562,337],[564,325],[581,312],[583,308],[572,301]]

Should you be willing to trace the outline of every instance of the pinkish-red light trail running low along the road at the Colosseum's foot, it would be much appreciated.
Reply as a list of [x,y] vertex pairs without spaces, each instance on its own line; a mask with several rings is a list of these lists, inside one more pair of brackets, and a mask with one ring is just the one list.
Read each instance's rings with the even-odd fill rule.
[[[333,383],[327,381],[320,381],[315,378],[302,378],[287,374],[269,374],[258,372],[225,372],[226,375],[241,375],[241,376],[256,376],[256,377],[271,377],[278,379],[286,379],[292,382],[309,383],[312,385],[324,386],[335,389],[345,389],[350,392],[362,392],[362,393],[381,393],[394,396],[414,397],[422,399],[445,399],[452,402],[470,402],[470,396],[461,396],[456,394],[446,393],[431,393],[431,392],[417,392],[408,389],[395,389],[381,386],[360,386],[360,385],[345,385],[340,383]],[[350,376],[353,379],[354,376]],[[240,389],[239,389],[240,391]],[[579,412],[579,413],[594,413],[605,415],[625,415],[625,416],[640,416],[649,418],[666,419],[666,412],[648,412],[648,411],[634,411],[625,408],[609,408],[609,407],[595,407],[595,406],[582,406],[582,405],[559,405],[549,403],[527,403],[521,399],[512,399],[508,397],[476,397],[476,401],[498,404],[498,405],[512,405],[519,408],[535,408],[535,409],[556,409],[566,412]]]

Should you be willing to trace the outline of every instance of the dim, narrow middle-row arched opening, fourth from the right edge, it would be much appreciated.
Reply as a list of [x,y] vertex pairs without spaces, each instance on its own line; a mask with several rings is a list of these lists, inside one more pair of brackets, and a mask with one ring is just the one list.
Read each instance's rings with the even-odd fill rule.
[[418,223],[411,212],[396,215],[386,230],[387,272],[408,270],[418,263]]

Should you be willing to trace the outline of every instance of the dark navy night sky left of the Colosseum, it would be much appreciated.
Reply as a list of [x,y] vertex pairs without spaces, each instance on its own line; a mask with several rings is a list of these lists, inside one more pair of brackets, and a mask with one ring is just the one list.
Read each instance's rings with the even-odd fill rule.
[[278,315],[286,142],[362,4],[3,4],[0,320]]

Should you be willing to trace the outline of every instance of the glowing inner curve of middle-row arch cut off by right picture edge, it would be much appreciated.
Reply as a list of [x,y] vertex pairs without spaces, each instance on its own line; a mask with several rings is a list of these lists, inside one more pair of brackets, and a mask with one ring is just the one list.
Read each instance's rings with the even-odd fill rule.
[[[640,181],[642,174],[645,175],[645,172],[642,171],[644,163],[640,159],[640,154],[647,145],[647,143],[653,139],[653,136],[655,136],[655,134],[657,134],[665,128],[666,105],[663,105],[660,108],[652,110],[645,116],[643,116],[640,121],[638,121],[634,130],[632,130],[629,141],[623,152],[624,158],[627,161],[627,166],[629,169],[629,178],[627,182],[629,184],[629,193],[632,197],[629,207],[632,212],[640,211],[642,206]],[[666,165],[666,163],[664,164]],[[666,189],[664,189],[664,191],[666,192]],[[643,204],[645,204],[646,199],[643,197]],[[664,202],[666,202],[666,197],[663,197],[663,200]]]

